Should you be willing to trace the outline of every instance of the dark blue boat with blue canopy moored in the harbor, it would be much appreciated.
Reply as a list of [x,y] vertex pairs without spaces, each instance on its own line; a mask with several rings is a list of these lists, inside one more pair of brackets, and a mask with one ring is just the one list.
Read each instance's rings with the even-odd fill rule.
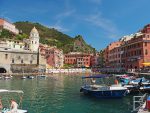
[[96,98],[122,98],[128,93],[127,88],[120,85],[108,86],[105,84],[97,84],[98,82],[96,82],[96,80],[98,80],[98,78],[102,79],[106,77],[110,77],[110,75],[83,76],[83,81],[91,79],[89,80],[91,82],[84,82],[84,85],[81,86],[80,92]]

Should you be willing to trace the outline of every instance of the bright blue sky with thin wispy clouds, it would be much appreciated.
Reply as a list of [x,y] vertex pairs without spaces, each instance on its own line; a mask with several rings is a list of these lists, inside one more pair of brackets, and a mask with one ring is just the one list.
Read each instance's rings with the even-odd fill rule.
[[0,17],[39,22],[97,50],[150,23],[150,0],[0,0]]

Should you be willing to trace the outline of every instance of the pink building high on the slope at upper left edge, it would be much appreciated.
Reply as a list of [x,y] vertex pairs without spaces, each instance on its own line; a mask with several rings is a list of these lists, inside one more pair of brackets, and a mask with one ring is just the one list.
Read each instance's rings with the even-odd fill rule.
[[19,30],[15,27],[14,24],[2,18],[0,18],[0,29],[6,29],[14,34],[19,34]]

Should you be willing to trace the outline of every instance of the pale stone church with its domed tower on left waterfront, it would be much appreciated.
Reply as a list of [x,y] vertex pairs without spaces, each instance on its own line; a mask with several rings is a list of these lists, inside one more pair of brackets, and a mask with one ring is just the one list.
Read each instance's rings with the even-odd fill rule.
[[30,34],[30,39],[27,39],[28,41],[0,41],[0,70],[5,70],[5,72],[13,72],[15,68],[20,66],[39,65],[39,42],[36,44],[31,43],[33,41],[32,38],[37,38],[39,40],[38,32],[37,30],[35,32],[35,29],[36,28],[33,28],[31,30],[31,34],[34,34],[34,36],[31,36]]

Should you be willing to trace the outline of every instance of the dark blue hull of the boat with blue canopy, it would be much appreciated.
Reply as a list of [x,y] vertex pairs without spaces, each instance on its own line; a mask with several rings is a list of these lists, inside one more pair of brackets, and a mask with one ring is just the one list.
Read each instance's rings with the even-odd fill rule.
[[126,90],[93,91],[84,88],[81,88],[80,92],[96,98],[122,98],[127,94]]

